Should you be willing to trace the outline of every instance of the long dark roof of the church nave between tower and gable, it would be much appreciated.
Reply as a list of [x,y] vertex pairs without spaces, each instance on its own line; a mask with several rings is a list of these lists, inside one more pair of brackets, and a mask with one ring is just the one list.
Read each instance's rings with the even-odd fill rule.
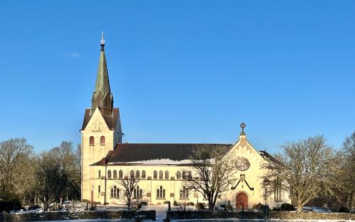
[[[188,160],[194,148],[217,148],[229,150],[232,144],[207,143],[118,143],[108,157],[108,164],[142,162],[148,160]],[[101,160],[93,165],[101,165]]]

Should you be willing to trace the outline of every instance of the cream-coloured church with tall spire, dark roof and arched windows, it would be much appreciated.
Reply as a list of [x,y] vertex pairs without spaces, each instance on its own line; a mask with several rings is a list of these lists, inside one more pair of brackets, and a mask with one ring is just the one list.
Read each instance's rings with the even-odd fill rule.
[[[233,209],[252,209],[264,204],[261,187],[261,165],[275,161],[266,151],[258,151],[247,140],[245,124],[234,144],[190,143],[123,143],[120,110],[113,106],[113,94],[108,80],[105,44],[102,38],[96,84],[91,107],[85,110],[81,133],[81,199],[101,204],[124,204],[118,179],[134,175],[140,179],[135,198],[148,205],[171,203],[205,203],[199,192],[188,191],[181,176],[189,167],[188,157],[196,147],[223,147],[235,157],[237,183],[221,194],[216,206],[230,201]],[[190,165],[191,167],[191,165]],[[291,203],[287,192],[276,189],[266,198],[273,208]]]

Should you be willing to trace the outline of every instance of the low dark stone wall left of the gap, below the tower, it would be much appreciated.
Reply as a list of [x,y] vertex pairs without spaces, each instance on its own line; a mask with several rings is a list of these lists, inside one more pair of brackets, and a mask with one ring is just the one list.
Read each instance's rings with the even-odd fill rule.
[[134,219],[155,220],[155,211],[51,211],[41,213],[3,213],[4,221],[62,221],[77,219]]

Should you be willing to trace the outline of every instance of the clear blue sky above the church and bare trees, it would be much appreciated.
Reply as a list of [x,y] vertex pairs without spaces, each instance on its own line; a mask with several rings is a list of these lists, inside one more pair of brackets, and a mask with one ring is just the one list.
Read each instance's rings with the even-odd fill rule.
[[101,31],[128,143],[355,131],[355,1],[1,1],[0,140],[80,143]]

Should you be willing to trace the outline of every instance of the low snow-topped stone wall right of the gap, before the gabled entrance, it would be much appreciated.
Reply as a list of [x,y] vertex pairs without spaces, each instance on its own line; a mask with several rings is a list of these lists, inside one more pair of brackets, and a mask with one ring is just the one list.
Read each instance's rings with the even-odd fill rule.
[[[239,219],[263,219],[261,212],[242,211],[167,211],[167,218],[177,219],[197,219],[197,218],[239,218]],[[296,213],[296,212],[271,212],[268,218],[291,220],[340,220],[355,221],[355,213]]]

